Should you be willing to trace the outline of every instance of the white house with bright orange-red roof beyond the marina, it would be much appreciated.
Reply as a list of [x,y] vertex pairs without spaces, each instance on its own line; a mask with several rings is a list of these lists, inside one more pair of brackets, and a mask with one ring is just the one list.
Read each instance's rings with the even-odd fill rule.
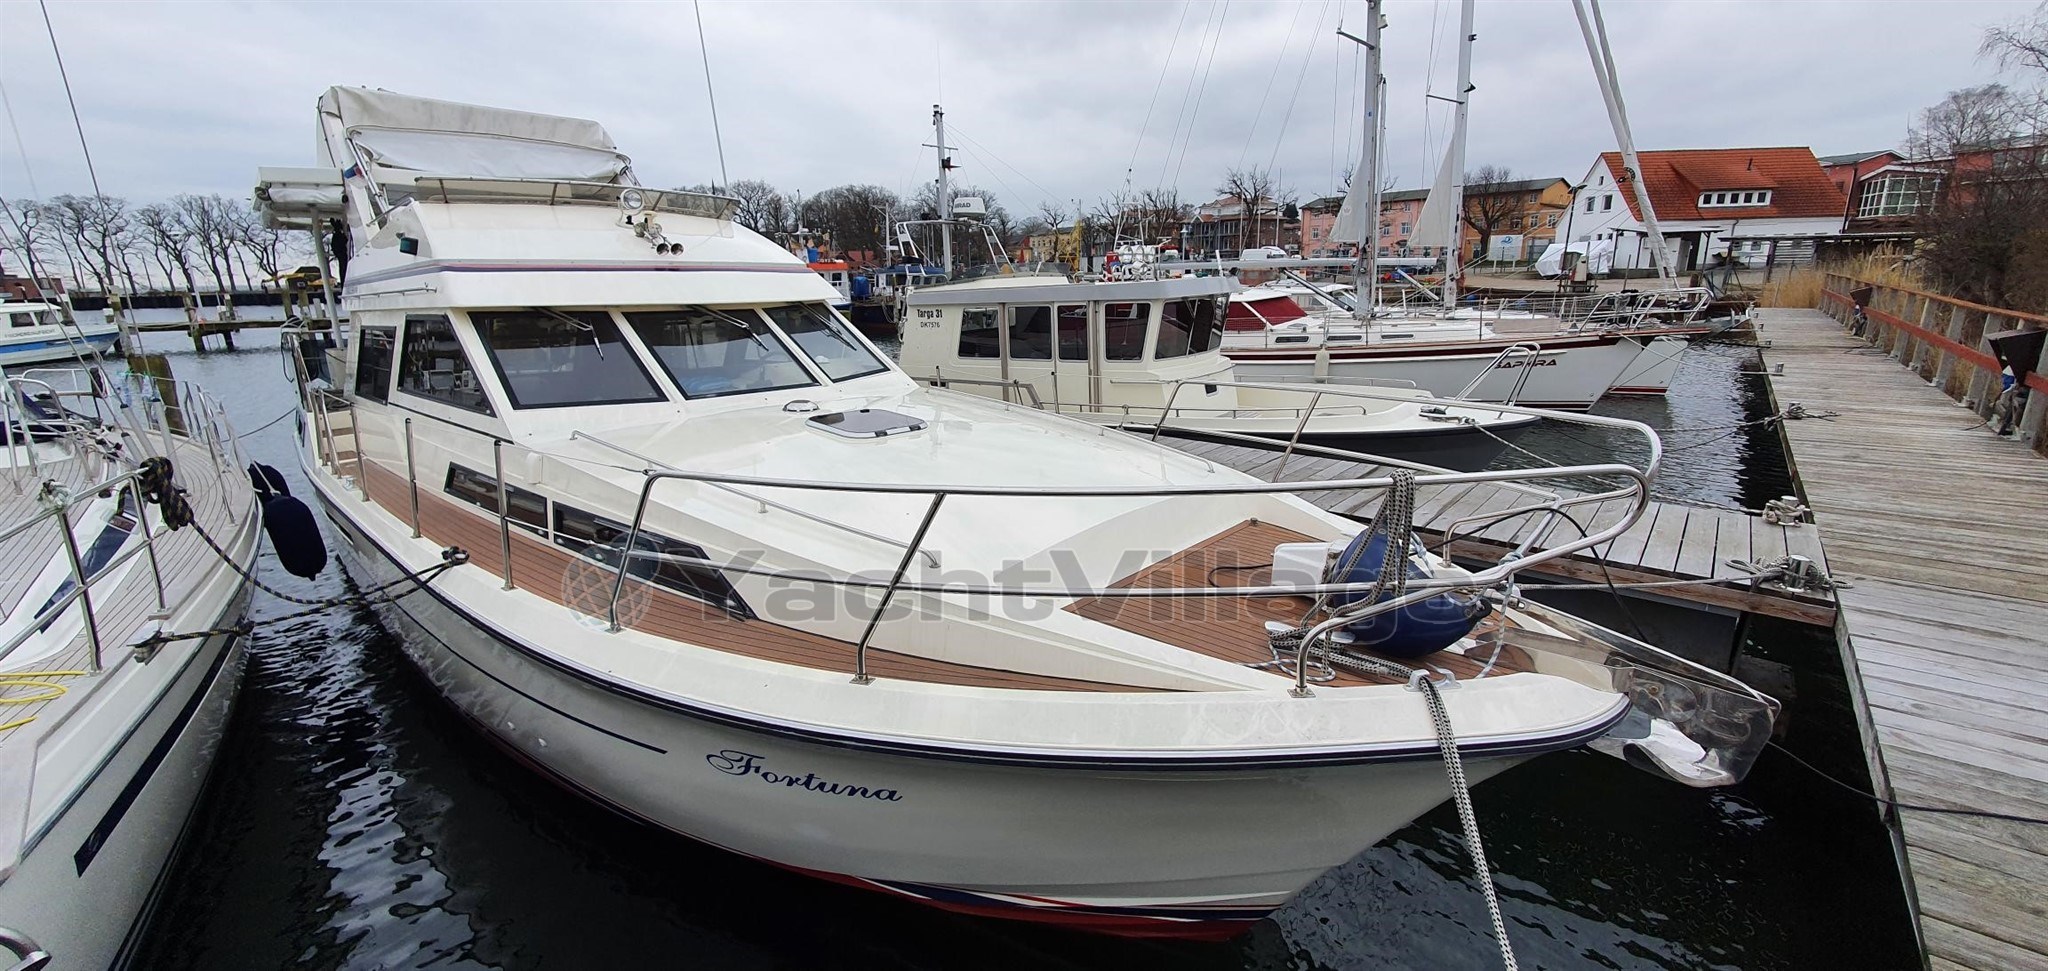
[[[1841,231],[1847,199],[1806,147],[1710,147],[1642,152],[1642,184],[1679,272],[1720,256],[1761,264],[1778,240],[1778,262],[1810,260],[1800,238]],[[1655,266],[1649,231],[1620,152],[1604,152],[1573,191],[1569,240],[1612,240],[1616,270]],[[1731,252],[1733,248],[1733,252]]]

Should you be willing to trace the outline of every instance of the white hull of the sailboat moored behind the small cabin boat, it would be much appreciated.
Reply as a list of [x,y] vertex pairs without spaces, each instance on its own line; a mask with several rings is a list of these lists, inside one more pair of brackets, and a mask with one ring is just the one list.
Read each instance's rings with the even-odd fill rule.
[[[1516,381],[1528,371],[1528,381],[1520,387],[1516,404],[1583,412],[1608,393],[1608,387],[1622,377],[1640,350],[1630,340],[1546,348],[1532,365],[1528,356],[1497,363],[1501,346],[1444,348],[1444,352],[1401,348],[1399,356],[1333,350],[1325,373],[1339,381],[1413,381],[1415,387],[1432,395],[1456,397],[1475,377],[1491,369],[1466,397],[1470,402],[1507,402],[1518,391]],[[1290,352],[1290,358],[1237,348],[1225,348],[1225,354],[1243,381],[1317,379],[1317,361],[1311,350]]]

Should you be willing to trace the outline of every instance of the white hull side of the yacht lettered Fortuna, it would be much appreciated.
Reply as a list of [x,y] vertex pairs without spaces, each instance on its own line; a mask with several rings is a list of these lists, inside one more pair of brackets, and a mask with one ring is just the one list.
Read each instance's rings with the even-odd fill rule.
[[[348,518],[373,506],[328,494],[326,508],[360,584],[397,576],[379,547],[397,531],[379,541],[383,526]],[[442,696],[557,783],[733,852],[950,910],[1124,934],[1235,934],[1450,797],[1430,758],[1042,768],[776,735],[635,699],[453,604],[422,592],[379,613]],[[1522,758],[1468,756],[1466,772],[1483,780]]]

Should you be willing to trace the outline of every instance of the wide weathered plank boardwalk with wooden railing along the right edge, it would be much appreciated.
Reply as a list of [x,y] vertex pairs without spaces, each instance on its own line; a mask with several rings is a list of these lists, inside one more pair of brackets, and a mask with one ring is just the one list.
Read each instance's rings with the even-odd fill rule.
[[[2048,817],[2048,459],[1812,309],[1765,309],[1878,787]],[[1948,379],[1946,371],[1939,375]],[[1929,967],[2048,971],[2048,828],[1898,813]]]

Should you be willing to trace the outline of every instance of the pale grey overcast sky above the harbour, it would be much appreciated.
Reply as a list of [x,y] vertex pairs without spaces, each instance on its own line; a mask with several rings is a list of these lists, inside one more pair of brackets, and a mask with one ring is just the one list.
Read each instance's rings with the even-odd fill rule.
[[[1946,92],[1995,78],[1985,27],[2034,0],[1606,4],[1636,143],[1896,145]],[[815,193],[934,174],[946,104],[961,178],[1016,215],[1094,203],[1126,178],[1206,201],[1231,166],[1303,199],[1356,156],[1362,0],[705,2],[731,178]],[[647,184],[719,178],[690,4],[49,2],[109,195],[246,197],[260,164],[309,164],[332,84],[602,121]],[[1386,4],[1389,168],[1442,152],[1456,2]],[[1567,0],[1479,4],[1468,164],[1577,178],[1614,145]],[[0,0],[8,199],[88,193],[35,2]],[[1155,96],[1157,92],[1157,96]],[[1128,172],[1126,172],[1128,170]]]

